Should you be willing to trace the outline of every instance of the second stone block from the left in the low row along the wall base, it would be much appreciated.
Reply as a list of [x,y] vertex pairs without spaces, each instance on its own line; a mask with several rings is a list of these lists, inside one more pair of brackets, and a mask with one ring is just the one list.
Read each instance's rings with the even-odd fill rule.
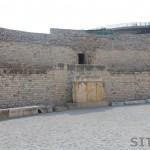
[[18,108],[9,108],[9,117],[21,117],[23,116],[23,107],[18,107]]

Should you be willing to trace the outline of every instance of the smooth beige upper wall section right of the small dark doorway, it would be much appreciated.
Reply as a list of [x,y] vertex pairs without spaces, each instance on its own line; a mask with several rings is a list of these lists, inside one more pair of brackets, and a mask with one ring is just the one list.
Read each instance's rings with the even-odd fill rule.
[[149,50],[111,50],[97,49],[95,64],[126,70],[140,70],[150,68]]

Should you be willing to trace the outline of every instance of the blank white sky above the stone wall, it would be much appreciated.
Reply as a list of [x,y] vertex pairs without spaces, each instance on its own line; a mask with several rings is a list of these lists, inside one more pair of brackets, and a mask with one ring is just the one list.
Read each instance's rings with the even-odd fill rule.
[[0,0],[0,27],[49,33],[150,22],[150,0]]

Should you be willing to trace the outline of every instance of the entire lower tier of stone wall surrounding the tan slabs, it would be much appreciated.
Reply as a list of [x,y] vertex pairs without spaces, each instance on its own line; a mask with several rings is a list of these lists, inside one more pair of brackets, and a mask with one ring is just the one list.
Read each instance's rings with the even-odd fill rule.
[[104,83],[109,102],[150,98],[148,71],[116,72],[100,65],[65,64],[35,68],[1,68],[0,108],[72,102],[72,83],[76,79]]

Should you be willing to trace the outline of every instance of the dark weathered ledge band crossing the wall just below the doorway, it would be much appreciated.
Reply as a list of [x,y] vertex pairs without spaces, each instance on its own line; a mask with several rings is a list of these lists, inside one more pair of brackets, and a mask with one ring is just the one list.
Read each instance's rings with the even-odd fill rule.
[[102,65],[70,65],[70,64],[56,64],[50,66],[27,66],[27,65],[9,65],[0,64],[0,69],[3,69],[4,73],[7,74],[45,74],[48,71],[66,70],[66,71],[107,71],[111,74],[134,74],[149,72],[150,68],[147,69],[123,69],[123,68],[107,68]]

